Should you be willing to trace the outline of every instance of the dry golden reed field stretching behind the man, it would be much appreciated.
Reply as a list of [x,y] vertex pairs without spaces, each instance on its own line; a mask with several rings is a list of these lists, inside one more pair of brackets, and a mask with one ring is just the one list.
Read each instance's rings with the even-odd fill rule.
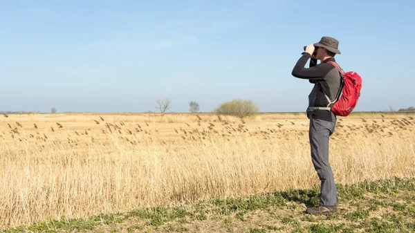
[[[414,176],[415,120],[383,114],[338,118],[337,183]],[[0,115],[0,144],[2,228],[320,183],[303,113]]]

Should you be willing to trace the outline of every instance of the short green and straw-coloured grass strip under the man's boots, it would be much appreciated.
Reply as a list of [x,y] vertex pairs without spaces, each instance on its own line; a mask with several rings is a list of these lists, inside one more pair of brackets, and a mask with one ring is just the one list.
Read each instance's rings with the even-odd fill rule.
[[194,232],[192,227],[196,225],[214,225],[212,229],[223,227],[230,231],[232,227],[244,227],[244,232],[415,232],[415,178],[337,187],[338,212],[328,216],[304,213],[306,207],[318,203],[310,201],[319,194],[319,187],[313,187],[83,219],[52,220],[3,232]]

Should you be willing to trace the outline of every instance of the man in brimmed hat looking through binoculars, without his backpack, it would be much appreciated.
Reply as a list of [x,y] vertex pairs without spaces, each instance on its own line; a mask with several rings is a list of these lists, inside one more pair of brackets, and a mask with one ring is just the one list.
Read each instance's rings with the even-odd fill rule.
[[[308,137],[311,158],[321,181],[320,205],[306,209],[308,214],[329,214],[337,211],[338,194],[329,164],[329,138],[335,129],[336,116],[330,111],[338,94],[342,77],[333,64],[339,41],[333,37],[322,37],[315,44],[306,46],[305,52],[293,68],[292,75],[314,84],[308,95],[307,118],[310,120]],[[309,68],[304,68],[311,58]],[[317,64],[320,60],[320,64]]]

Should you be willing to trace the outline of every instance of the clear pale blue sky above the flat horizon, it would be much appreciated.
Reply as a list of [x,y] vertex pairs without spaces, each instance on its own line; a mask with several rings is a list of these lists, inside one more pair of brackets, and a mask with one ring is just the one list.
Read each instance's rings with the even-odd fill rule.
[[303,46],[340,41],[356,111],[415,106],[415,1],[0,0],[0,111],[305,111]]

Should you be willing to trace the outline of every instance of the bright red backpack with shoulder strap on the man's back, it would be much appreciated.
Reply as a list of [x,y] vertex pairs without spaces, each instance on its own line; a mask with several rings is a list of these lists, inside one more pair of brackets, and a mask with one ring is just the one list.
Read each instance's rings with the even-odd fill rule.
[[335,115],[347,116],[358,103],[360,97],[360,90],[362,89],[362,77],[354,71],[344,71],[335,64],[335,62],[327,62],[335,66],[343,76],[343,83],[340,86],[340,91],[336,97],[336,102],[333,104],[331,111]]

